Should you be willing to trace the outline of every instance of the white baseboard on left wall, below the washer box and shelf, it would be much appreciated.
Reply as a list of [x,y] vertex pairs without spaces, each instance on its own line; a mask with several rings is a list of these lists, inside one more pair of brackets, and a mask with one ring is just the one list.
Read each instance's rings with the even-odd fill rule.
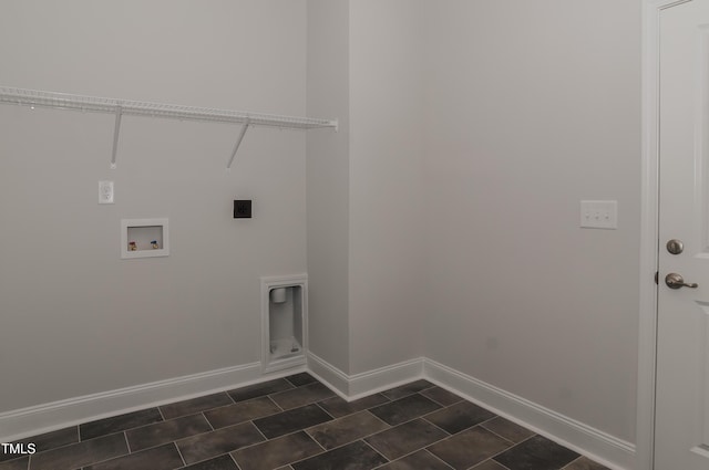
[[[288,373],[292,374],[294,370]],[[0,442],[11,442],[81,422],[224,391],[274,377],[263,376],[261,363],[253,363],[2,412]]]

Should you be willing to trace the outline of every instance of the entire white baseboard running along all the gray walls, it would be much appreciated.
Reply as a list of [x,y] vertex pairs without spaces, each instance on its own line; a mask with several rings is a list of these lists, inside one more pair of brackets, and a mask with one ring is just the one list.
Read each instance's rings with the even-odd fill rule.
[[[302,370],[306,367],[263,375],[261,364],[251,363],[2,412],[0,442],[11,442],[81,422],[238,388]],[[427,378],[610,469],[627,470],[634,466],[636,452],[633,443],[432,359],[421,357],[348,375],[308,353],[307,370],[347,400]]]

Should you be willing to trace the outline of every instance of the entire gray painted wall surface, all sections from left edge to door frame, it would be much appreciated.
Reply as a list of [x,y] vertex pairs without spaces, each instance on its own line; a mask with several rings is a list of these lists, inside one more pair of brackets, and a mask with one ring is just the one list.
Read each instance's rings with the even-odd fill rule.
[[[258,278],[307,270],[342,372],[423,355],[633,441],[640,2],[213,7],[4,6],[2,84],[341,128],[255,129],[227,174],[234,127],[126,119],[110,171],[109,116],[0,107],[0,411],[257,361]],[[124,217],[171,257],[120,260]]]

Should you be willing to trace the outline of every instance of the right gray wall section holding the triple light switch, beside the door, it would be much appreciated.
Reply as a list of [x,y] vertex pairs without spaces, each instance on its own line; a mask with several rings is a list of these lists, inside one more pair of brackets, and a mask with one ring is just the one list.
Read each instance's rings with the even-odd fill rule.
[[[640,2],[427,2],[425,354],[635,439]],[[618,230],[578,228],[618,200]]]

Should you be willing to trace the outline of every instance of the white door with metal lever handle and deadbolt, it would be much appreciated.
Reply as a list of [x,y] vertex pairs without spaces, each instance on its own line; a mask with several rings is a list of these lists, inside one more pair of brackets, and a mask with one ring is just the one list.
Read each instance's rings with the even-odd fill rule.
[[708,470],[709,0],[660,12],[659,64],[655,469]]

